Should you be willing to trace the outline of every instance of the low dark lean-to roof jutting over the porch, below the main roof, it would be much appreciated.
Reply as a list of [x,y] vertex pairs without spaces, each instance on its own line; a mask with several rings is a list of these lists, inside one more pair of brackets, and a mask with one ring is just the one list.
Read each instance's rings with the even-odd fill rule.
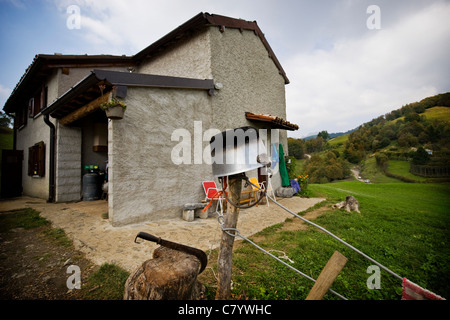
[[90,75],[42,110],[41,113],[61,119],[99,98],[102,94],[111,91],[113,87],[197,89],[207,90],[209,94],[212,94],[214,81],[94,69]]

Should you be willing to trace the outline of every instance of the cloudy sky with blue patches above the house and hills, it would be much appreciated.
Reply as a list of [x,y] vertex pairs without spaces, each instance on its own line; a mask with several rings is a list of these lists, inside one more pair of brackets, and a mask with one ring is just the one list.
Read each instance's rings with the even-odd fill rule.
[[292,137],[450,91],[449,0],[0,0],[0,106],[37,53],[133,55],[199,12],[258,22],[291,82]]

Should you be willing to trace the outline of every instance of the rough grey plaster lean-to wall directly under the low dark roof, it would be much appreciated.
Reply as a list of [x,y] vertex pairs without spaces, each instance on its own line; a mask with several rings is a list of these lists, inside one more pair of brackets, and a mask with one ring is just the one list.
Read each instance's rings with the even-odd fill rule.
[[[194,120],[209,128],[211,100],[203,90],[128,88],[125,116],[110,121],[108,128],[108,202],[114,226],[181,217],[185,203],[201,199],[210,165],[177,165],[172,149],[185,138],[193,146]],[[188,135],[172,141],[177,129]]]

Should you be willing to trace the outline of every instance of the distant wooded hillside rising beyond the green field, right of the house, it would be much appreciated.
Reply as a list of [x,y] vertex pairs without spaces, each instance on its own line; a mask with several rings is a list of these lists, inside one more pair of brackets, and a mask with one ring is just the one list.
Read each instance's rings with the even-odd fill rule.
[[[409,103],[358,128],[304,139],[288,138],[289,155],[309,158],[302,164],[311,183],[348,177],[352,165],[414,160],[428,153],[427,166],[450,167],[450,92]],[[308,156],[306,156],[308,155]],[[382,166],[380,166],[381,168]],[[384,167],[385,168],[385,167]]]

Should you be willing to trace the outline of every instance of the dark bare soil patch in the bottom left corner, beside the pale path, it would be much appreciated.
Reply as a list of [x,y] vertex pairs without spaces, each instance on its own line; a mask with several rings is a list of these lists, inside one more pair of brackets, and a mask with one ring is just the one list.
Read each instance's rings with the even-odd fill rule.
[[67,288],[68,267],[80,268],[83,283],[96,266],[73,246],[62,246],[46,236],[50,229],[17,228],[0,233],[1,300],[80,299],[78,290]]

